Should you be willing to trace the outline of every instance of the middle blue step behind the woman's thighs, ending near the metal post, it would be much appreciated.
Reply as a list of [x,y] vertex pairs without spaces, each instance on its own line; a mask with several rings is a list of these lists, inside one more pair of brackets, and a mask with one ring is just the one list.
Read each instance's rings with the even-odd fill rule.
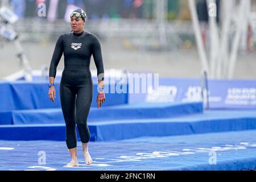
[[[178,115],[202,113],[201,102],[183,104],[126,104],[92,107],[88,121],[106,121],[119,119],[168,118]],[[0,125],[22,125],[43,123],[65,123],[61,109],[0,111]]]

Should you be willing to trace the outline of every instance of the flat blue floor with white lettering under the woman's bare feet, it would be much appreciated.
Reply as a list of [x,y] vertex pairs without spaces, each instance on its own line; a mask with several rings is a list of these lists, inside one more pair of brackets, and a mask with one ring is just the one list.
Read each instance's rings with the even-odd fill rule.
[[[102,150],[104,148],[104,150]],[[0,170],[158,171],[249,170],[256,168],[256,130],[143,137],[89,143],[93,164],[63,168],[70,160],[65,142],[0,140]],[[45,163],[42,164],[42,156]]]

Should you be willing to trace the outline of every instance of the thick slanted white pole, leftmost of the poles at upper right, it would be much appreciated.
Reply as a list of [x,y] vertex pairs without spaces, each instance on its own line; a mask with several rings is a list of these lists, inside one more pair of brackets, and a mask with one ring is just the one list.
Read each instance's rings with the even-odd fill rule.
[[209,73],[209,64],[207,61],[207,56],[206,56],[205,48],[203,45],[203,39],[201,36],[199,19],[198,19],[197,13],[196,13],[196,3],[195,3],[195,0],[189,0],[188,2],[189,2],[189,8],[191,11],[191,16],[192,16],[193,28],[194,28],[195,36],[196,36],[197,50],[199,51],[199,56],[200,56],[200,60],[201,60],[203,69],[207,73]]

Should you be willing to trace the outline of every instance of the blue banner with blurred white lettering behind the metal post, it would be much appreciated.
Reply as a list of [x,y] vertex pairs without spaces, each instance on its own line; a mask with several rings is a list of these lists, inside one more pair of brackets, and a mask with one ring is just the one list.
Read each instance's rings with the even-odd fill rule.
[[[255,80],[208,80],[208,87],[210,109],[256,109]],[[148,85],[146,94],[131,93],[129,97],[130,102],[199,102],[202,101],[201,82],[200,79],[159,78],[157,89]]]

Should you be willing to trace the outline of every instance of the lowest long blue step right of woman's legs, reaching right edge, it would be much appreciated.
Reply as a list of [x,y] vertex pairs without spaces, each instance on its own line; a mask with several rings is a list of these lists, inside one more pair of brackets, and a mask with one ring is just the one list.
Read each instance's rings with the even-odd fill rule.
[[93,122],[97,141],[256,129],[255,111],[205,111],[177,118]]

